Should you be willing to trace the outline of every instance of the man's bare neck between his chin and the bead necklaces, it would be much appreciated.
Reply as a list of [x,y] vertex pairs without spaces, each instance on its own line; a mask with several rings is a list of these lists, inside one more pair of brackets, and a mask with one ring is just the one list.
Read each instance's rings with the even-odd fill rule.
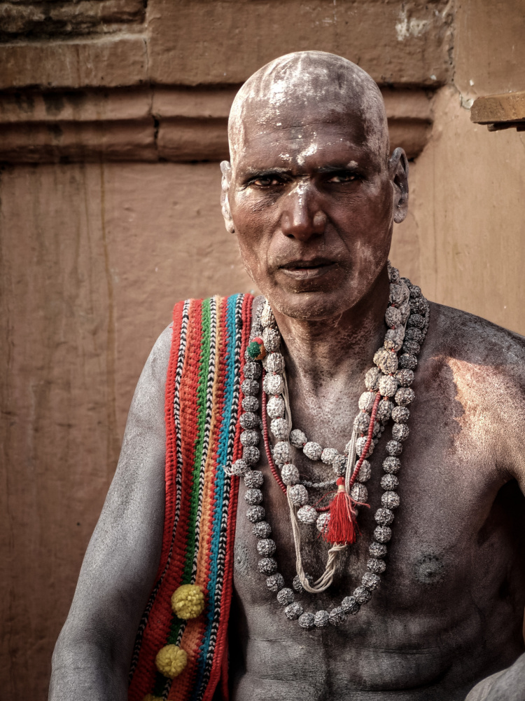
[[305,321],[276,312],[288,372],[316,384],[370,367],[384,341],[388,289],[385,270],[356,307],[336,317]]

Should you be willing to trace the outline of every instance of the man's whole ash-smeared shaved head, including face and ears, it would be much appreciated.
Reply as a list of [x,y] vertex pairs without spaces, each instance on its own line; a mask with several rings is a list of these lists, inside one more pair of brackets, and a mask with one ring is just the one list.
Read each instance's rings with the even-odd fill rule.
[[334,317],[363,301],[381,271],[386,292],[393,214],[396,222],[406,215],[408,168],[402,149],[388,160],[384,104],[370,76],[328,53],[281,57],[239,90],[228,132],[226,226],[274,311]]

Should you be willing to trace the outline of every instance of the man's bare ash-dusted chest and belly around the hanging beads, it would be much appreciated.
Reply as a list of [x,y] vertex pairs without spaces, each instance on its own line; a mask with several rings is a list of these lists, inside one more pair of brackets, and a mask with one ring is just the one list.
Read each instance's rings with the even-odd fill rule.
[[[520,553],[523,560],[525,554],[523,536],[517,535],[525,532],[525,523],[521,523],[523,499],[512,486],[498,494],[503,482],[494,469],[491,437],[479,444],[457,421],[461,407],[454,401],[442,401],[442,395],[423,387],[420,390],[411,407],[410,435],[401,456],[400,506],[391,525],[381,585],[372,599],[341,626],[307,632],[296,620],[286,618],[275,592],[267,589],[265,574],[259,571],[258,538],[246,519],[246,489],[241,485],[234,611],[239,655],[244,658],[239,669],[244,667],[246,673],[239,676],[239,699],[244,697],[243,685],[250,674],[254,670],[260,674],[260,660],[266,660],[265,674],[288,688],[287,694],[292,681],[296,684],[297,679],[306,679],[314,688],[321,684],[324,689],[332,688],[334,697],[344,697],[358,688],[386,693],[394,688],[432,684],[437,679],[445,680],[436,687],[442,693],[443,684],[452,684],[456,676],[461,677],[456,669],[458,649],[466,647],[474,653],[481,646],[488,660],[488,641],[502,621],[508,634],[503,648],[496,653],[490,651],[490,663],[494,655],[512,656],[518,651],[515,629],[525,603],[525,571],[521,567],[509,572],[507,564],[519,559]],[[355,414],[352,406],[356,407],[356,402],[339,402],[331,430],[330,417],[309,421],[307,411],[298,412],[298,422],[312,440],[342,450],[349,433],[345,427]],[[318,433],[316,424],[322,426]],[[360,509],[358,541],[339,557],[334,582],[327,592],[296,592],[295,599],[304,611],[330,612],[352,594],[367,571],[369,546],[377,525],[374,513],[381,505],[383,492],[381,465],[390,431],[388,426],[370,458],[370,508]],[[316,479],[322,479],[327,469],[320,463],[312,466],[300,455],[294,459],[305,475]],[[260,469],[264,475],[262,505],[276,543],[274,557],[285,586],[292,587],[295,548],[286,497],[266,461],[261,461]],[[326,477],[330,478],[329,472]],[[304,569],[317,578],[323,572],[328,545],[315,526],[306,525],[301,526],[301,543]],[[502,587],[506,598],[501,596]],[[479,611],[485,613],[480,615]],[[490,622],[496,618],[497,626]],[[480,664],[487,664],[482,657]],[[301,683],[298,688],[302,688]],[[459,688],[457,679],[455,683]],[[419,698],[416,693],[413,697]],[[321,690],[318,698],[323,698]]]

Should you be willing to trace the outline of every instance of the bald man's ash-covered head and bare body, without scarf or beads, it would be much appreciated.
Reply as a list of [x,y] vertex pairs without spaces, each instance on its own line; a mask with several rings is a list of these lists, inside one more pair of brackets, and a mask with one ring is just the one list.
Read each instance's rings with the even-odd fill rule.
[[[390,155],[370,76],[320,52],[283,56],[251,76],[233,104],[229,137],[225,224],[274,313],[293,424],[342,453],[386,333],[387,258],[393,224],[407,213],[407,159],[402,149]],[[52,701],[127,697],[161,557],[171,335],[155,343],[134,395],[55,649]],[[370,603],[342,625],[305,630],[283,618],[258,571],[241,483],[229,629],[234,701],[525,699],[524,367],[521,336],[430,304],[386,571]],[[385,441],[370,458],[375,474]],[[321,461],[295,452],[301,475],[325,479]],[[286,496],[265,458],[258,468],[289,582],[296,570]],[[367,486],[368,501],[378,503],[379,476]],[[360,509],[358,519],[362,535],[342,553],[327,590],[303,592],[305,608],[333,610],[362,575],[373,510]],[[327,550],[304,529],[307,571],[322,573]]]

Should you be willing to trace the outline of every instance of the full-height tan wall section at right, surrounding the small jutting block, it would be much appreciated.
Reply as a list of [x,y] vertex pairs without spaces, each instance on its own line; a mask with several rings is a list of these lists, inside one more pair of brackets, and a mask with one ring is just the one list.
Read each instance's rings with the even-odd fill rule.
[[[433,97],[430,141],[392,257],[430,299],[525,334],[525,134],[470,122],[472,99],[525,87],[525,4],[465,0],[454,79]],[[405,263],[404,261],[407,261]]]

